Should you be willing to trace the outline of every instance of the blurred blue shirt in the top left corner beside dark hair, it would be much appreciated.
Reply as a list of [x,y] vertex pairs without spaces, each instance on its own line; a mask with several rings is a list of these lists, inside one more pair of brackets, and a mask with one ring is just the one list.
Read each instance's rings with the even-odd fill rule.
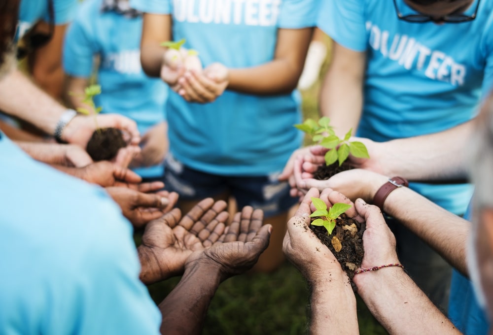
[[[53,0],[55,25],[70,22],[75,13],[76,3],[77,0]],[[38,21],[50,22],[48,0],[21,0],[15,40],[22,38]]]

